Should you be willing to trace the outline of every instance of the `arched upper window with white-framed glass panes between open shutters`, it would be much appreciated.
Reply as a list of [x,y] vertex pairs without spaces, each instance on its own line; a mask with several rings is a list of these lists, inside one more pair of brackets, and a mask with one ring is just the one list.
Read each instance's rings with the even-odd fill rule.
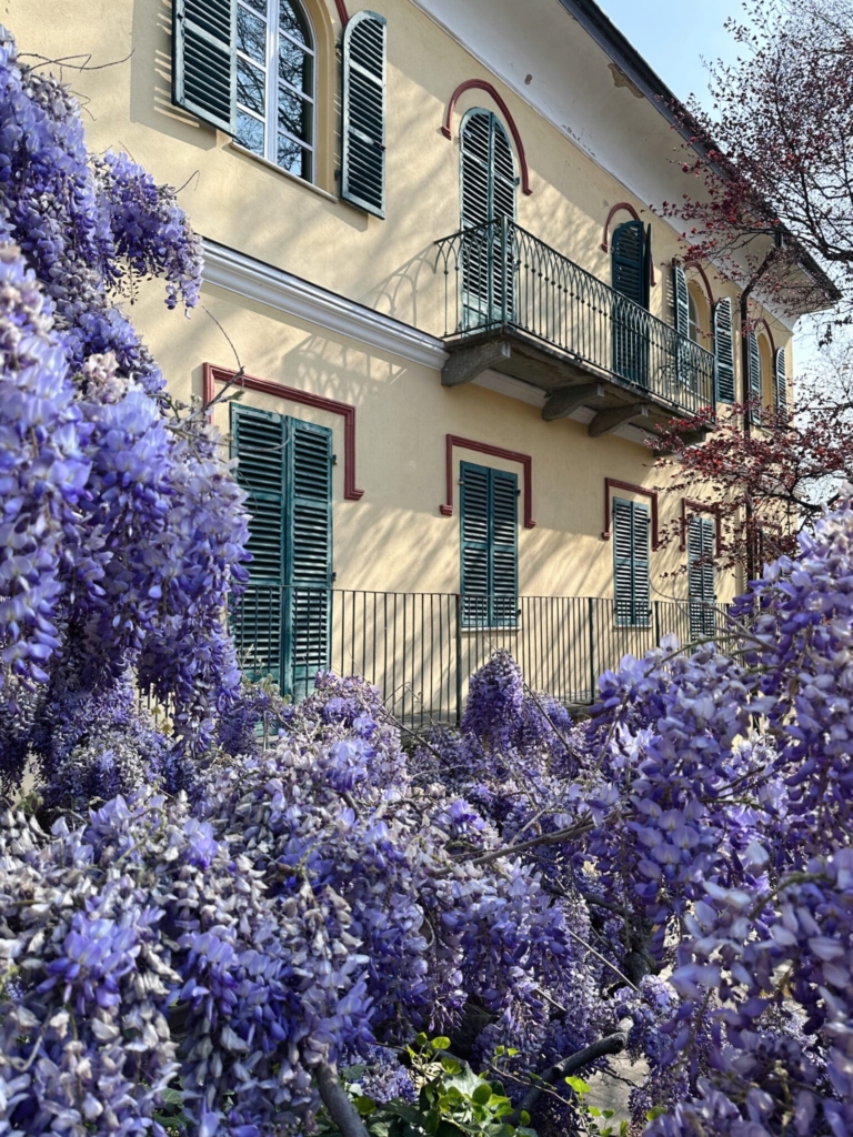
[[237,140],[314,180],[315,43],[298,0],[238,0]]

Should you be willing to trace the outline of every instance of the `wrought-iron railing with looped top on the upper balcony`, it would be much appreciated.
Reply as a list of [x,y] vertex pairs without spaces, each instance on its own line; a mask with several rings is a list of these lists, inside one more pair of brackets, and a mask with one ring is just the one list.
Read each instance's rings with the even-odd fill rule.
[[445,338],[500,327],[585,370],[695,414],[714,404],[714,357],[505,217],[437,241]]

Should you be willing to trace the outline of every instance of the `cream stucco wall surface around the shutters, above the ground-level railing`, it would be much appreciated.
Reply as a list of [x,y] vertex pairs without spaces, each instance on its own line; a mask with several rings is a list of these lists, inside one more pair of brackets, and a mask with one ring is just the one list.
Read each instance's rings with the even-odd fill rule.
[[[548,3],[530,0],[529,18],[536,20]],[[321,60],[316,186],[239,152],[225,135],[171,105],[167,0],[2,0],[0,10],[22,51],[48,59],[91,56],[98,66],[116,60],[102,69],[65,72],[85,99],[91,148],[126,149],[158,181],[182,186],[180,200],[206,238],[432,335],[444,332],[444,282],[434,272],[433,242],[459,222],[458,123],[472,106],[498,108],[486,92],[467,91],[456,107],[453,141],[444,138],[440,126],[447,101],[463,80],[488,80],[515,118],[530,166],[532,193],[517,194],[519,224],[610,281],[602,227],[613,205],[629,201],[653,226],[657,283],[652,312],[671,322],[664,266],[679,254],[674,230],[409,0],[378,0],[373,6],[388,19],[387,218],[368,217],[338,200],[334,43],[341,27],[331,0],[305,0],[305,6]],[[358,7],[351,3],[350,11]],[[585,33],[566,17],[565,34]],[[627,86],[621,97],[636,100]],[[710,275],[714,298],[730,294],[737,310],[735,290]],[[457,511],[444,517],[438,508],[445,497],[445,437],[453,433],[532,456],[537,525],[519,530],[521,591],[612,595],[612,548],[601,537],[604,479],[644,487],[666,479],[652,470],[639,434],[633,440],[593,439],[582,422],[545,423],[538,407],[482,387],[445,389],[434,367],[233,291],[208,284],[202,302],[248,373],[357,409],[357,481],[365,492],[359,501],[345,501],[341,420],[255,392],[247,398],[334,430],[337,587],[458,589]],[[204,310],[190,321],[167,313],[154,287],[142,290],[133,318],[179,398],[200,396],[205,362],[234,365],[231,346]],[[788,342],[788,330],[769,322],[776,346]],[[737,342],[736,352],[739,358]],[[226,431],[225,413],[218,409],[216,417]],[[456,471],[464,458],[521,474],[514,464],[464,450],[455,454]],[[661,509],[665,526],[680,515],[680,500],[664,496]],[[664,576],[682,557],[678,541],[653,556],[660,598],[685,595],[684,576]],[[734,583],[720,581],[722,599],[731,595]]]

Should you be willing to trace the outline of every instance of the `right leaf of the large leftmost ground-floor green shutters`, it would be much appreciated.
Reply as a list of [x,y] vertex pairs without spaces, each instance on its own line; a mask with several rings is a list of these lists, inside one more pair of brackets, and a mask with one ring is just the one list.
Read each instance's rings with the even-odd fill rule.
[[332,432],[288,420],[285,689],[300,698],[330,665]]

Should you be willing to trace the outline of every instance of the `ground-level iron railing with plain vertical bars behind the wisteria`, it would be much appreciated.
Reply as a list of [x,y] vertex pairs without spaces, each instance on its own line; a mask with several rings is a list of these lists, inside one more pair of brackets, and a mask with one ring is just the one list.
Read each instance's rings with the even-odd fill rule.
[[[322,636],[317,629],[309,637],[287,636],[285,614],[295,601],[299,611],[314,605]],[[654,600],[646,624],[619,626],[610,599],[522,596],[514,626],[486,628],[470,625],[456,594],[333,589],[318,595],[250,584],[232,606],[230,622],[250,679],[273,675],[285,694],[299,697],[318,670],[363,675],[407,729],[419,729],[459,721],[471,675],[497,648],[512,653],[533,690],[582,706],[594,702],[598,677],[624,655],[640,656],[665,634],[689,642],[696,613],[691,621],[687,601]]]

